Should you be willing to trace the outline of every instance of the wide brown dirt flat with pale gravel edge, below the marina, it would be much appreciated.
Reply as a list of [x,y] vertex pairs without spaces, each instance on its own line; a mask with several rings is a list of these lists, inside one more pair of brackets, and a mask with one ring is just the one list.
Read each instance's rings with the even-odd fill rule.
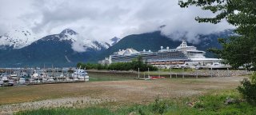
[[[162,79],[154,81],[95,81],[29,85],[0,89],[0,114],[26,109],[83,107],[112,102],[146,103],[155,97],[190,97],[211,89],[234,89],[243,77]],[[12,104],[13,103],[13,104]]]

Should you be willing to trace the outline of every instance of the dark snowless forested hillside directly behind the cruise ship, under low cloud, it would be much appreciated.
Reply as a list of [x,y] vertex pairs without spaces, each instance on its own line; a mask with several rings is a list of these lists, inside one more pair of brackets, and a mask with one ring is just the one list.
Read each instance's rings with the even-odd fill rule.
[[[206,51],[209,48],[218,48],[221,46],[218,44],[218,38],[226,38],[232,33],[232,30],[225,30],[223,32],[208,34],[208,35],[199,35],[199,44],[193,45],[188,43],[189,46],[196,46],[198,50]],[[118,50],[126,50],[127,48],[134,48],[134,50],[151,50],[158,51],[161,46],[169,46],[170,48],[176,48],[181,42],[173,41],[166,36],[163,36],[160,31],[146,34],[132,34],[122,38],[117,44],[111,46],[109,49],[105,50],[98,56],[98,60],[102,60],[105,57],[109,57],[110,54]],[[206,57],[213,57],[212,54],[206,52]]]

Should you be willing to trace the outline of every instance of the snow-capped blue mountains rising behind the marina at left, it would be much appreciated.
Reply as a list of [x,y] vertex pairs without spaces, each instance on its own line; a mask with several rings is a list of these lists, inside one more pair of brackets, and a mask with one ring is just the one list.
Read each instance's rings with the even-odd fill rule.
[[[16,33],[14,33],[16,32]],[[84,38],[74,30],[62,30],[36,39],[28,30],[14,30],[3,35],[0,49],[0,67],[75,66],[78,62],[98,61],[98,55],[108,49],[108,43]],[[30,38],[31,37],[31,38]],[[10,48],[9,48],[10,47]]]

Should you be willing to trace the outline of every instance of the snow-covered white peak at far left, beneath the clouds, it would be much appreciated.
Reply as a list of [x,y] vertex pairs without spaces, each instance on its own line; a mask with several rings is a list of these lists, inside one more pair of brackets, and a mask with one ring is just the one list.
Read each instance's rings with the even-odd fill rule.
[[10,30],[6,34],[0,36],[0,47],[21,49],[25,46],[29,46],[32,42],[37,41],[38,38],[33,34],[31,30],[25,28],[19,28]]

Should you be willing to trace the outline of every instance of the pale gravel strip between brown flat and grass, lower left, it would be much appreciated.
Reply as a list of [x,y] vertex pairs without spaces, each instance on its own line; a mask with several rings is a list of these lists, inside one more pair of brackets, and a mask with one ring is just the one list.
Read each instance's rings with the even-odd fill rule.
[[27,109],[74,107],[81,108],[90,105],[98,105],[104,102],[114,102],[112,98],[91,98],[91,97],[65,97],[58,99],[48,99],[43,101],[29,101],[19,104],[1,105],[2,114],[12,114],[14,112]]

